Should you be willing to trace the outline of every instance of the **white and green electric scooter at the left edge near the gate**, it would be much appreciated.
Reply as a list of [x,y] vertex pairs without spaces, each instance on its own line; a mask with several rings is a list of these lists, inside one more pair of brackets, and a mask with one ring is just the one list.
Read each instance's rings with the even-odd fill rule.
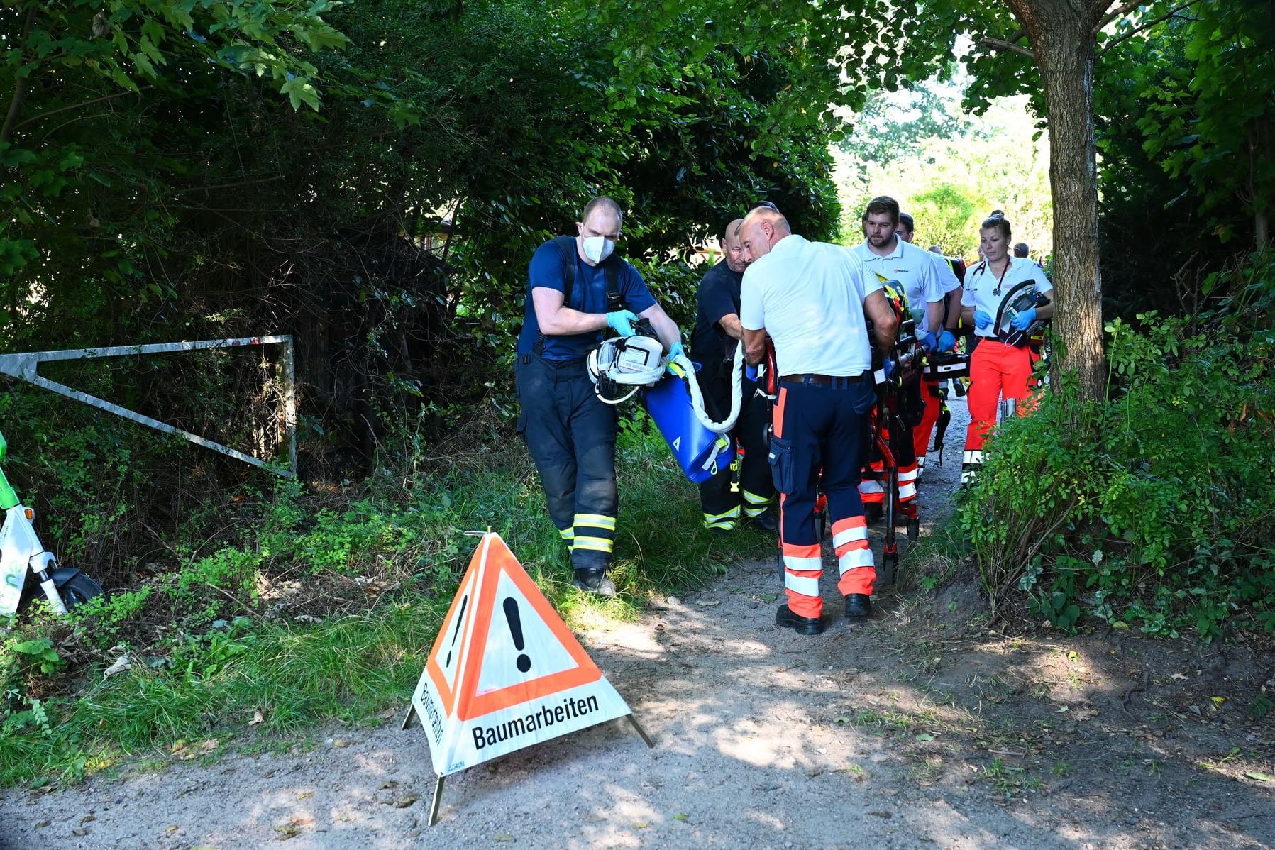
[[[0,461],[9,443],[0,433]],[[59,567],[57,558],[45,549],[36,535],[36,512],[18,501],[0,469],[0,618],[11,617],[29,601],[27,577],[34,576],[45,599],[59,614],[102,595],[102,585],[74,567]]]

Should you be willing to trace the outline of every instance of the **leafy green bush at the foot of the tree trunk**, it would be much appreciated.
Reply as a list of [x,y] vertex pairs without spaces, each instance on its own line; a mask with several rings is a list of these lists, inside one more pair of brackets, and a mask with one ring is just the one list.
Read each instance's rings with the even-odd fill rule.
[[1026,591],[1067,630],[1275,631],[1275,257],[1209,289],[1198,317],[1108,325],[1109,400],[1063,386],[989,441],[961,524],[993,604]]

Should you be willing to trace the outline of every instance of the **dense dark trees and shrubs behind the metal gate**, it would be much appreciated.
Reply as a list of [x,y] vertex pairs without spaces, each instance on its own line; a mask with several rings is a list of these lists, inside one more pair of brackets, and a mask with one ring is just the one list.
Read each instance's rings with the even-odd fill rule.
[[[595,15],[495,0],[6,6],[0,38],[22,47],[0,66],[10,349],[291,333],[303,473],[361,478],[437,456],[423,446],[474,409],[509,417],[527,261],[592,195],[629,209],[622,251],[683,326],[686,257],[754,200],[835,232],[819,127],[776,117],[813,106],[792,61],[671,43],[621,92],[608,46],[578,34]],[[277,450],[260,354],[45,371]],[[19,492],[60,517],[64,559],[112,586],[171,548],[204,493],[249,480],[20,385],[5,404]],[[152,521],[117,524],[125,510]]]

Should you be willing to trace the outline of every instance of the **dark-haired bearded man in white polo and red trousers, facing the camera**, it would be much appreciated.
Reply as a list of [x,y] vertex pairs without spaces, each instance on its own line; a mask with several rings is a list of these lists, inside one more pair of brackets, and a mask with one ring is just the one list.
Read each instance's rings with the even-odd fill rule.
[[[873,198],[863,210],[862,243],[852,249],[882,283],[898,280],[904,287],[908,306],[917,322],[917,339],[927,352],[951,350],[956,338],[947,329],[955,325],[959,312],[949,310],[951,293],[960,289],[960,283],[947,265],[946,259],[935,256],[899,238],[899,203],[887,195]],[[959,296],[958,296],[959,298]],[[954,315],[950,315],[954,313]],[[931,398],[928,387],[922,387],[926,404],[921,424],[912,429],[913,461],[899,463],[899,501],[912,501],[917,496],[917,482],[926,464],[929,450],[929,432],[938,421],[938,398]],[[933,407],[933,417],[929,417]],[[885,491],[878,482],[866,480],[859,486],[863,501],[872,516],[884,512]]]

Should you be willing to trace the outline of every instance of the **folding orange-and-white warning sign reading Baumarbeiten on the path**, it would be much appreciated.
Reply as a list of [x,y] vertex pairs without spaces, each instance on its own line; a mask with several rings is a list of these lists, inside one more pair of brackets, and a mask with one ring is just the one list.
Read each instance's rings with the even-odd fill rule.
[[484,534],[412,705],[439,776],[631,714],[497,534]]

